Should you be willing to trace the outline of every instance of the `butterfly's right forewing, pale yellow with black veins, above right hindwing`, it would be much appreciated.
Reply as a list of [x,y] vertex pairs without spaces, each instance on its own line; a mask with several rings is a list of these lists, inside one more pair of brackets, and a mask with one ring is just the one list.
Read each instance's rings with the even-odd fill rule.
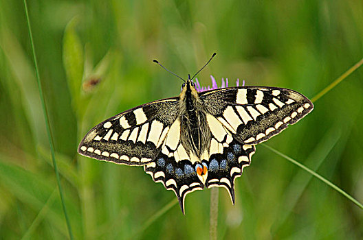
[[240,143],[256,145],[307,115],[307,97],[286,88],[245,86],[200,94],[204,106]]

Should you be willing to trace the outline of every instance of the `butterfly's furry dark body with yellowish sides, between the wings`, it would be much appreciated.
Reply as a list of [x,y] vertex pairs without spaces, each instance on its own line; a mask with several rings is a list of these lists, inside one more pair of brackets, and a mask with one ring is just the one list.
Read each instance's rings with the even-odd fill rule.
[[206,111],[199,93],[186,82],[179,96],[179,118],[181,121],[181,143],[188,153],[199,159],[210,145],[210,130],[206,121]]

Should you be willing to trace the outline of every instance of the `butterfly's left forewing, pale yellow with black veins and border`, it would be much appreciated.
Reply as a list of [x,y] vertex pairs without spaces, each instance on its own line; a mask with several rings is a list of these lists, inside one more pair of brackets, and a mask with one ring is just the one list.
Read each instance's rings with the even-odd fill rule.
[[153,101],[102,121],[86,134],[78,153],[125,165],[150,163],[177,118],[178,99]]

